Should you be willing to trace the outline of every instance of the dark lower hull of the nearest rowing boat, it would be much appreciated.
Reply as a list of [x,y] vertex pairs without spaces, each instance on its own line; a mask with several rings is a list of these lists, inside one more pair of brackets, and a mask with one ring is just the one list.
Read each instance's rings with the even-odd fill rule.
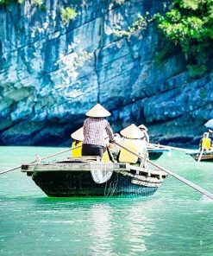
[[53,197],[147,196],[158,189],[135,184],[131,176],[116,172],[102,184],[93,181],[90,171],[38,172],[32,175],[32,179],[46,195]]

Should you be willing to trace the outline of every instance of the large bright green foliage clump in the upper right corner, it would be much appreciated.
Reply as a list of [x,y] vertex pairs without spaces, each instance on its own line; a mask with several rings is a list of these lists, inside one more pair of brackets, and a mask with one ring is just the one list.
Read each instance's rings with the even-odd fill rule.
[[[196,77],[207,71],[213,56],[213,0],[172,0],[166,15],[156,15],[157,27],[174,45],[179,45]],[[196,66],[197,65],[197,66]]]

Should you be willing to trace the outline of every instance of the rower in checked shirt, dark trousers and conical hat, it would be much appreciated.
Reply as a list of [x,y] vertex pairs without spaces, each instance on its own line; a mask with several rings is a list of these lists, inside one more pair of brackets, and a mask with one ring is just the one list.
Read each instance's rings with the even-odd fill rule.
[[113,141],[113,131],[109,122],[105,119],[110,116],[103,106],[97,104],[90,111],[86,112],[88,118],[83,125],[84,141],[82,145],[82,156],[103,157],[106,150],[106,137]]

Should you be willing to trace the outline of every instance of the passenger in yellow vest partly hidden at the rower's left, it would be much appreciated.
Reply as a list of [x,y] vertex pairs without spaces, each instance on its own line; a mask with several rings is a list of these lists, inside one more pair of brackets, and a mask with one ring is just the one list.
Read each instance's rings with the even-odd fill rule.
[[[82,144],[84,140],[83,127],[77,131],[72,132],[71,138],[73,138],[71,146],[72,157],[81,157],[82,156]],[[78,147],[79,146],[79,147]],[[77,149],[74,149],[78,147]]]

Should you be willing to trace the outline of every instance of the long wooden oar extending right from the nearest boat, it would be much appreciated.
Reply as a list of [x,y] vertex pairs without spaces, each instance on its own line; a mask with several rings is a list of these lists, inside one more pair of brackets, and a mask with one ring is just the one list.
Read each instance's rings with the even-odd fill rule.
[[[135,155],[136,157],[140,158],[141,160],[143,160],[143,157],[141,157],[140,155],[136,154],[135,152],[133,152],[132,150],[128,150],[128,148],[122,146],[121,144],[116,143],[115,141],[113,141],[114,144],[118,145],[119,147],[121,147],[123,150],[127,150],[129,153]],[[150,160],[147,160],[148,163],[151,163],[153,166],[159,168],[160,170],[164,170],[167,174],[175,177],[176,179],[178,179],[180,182],[184,182],[186,185],[190,186],[192,189],[196,189],[198,192],[200,192],[203,195],[206,195],[208,197],[210,197],[210,199],[213,200],[213,194],[211,194],[209,191],[202,189],[201,187],[197,186],[197,184],[186,180],[184,177],[179,176],[178,174],[172,172],[171,170],[166,170],[165,168],[161,167],[160,165],[156,164],[156,163],[152,163]]]

